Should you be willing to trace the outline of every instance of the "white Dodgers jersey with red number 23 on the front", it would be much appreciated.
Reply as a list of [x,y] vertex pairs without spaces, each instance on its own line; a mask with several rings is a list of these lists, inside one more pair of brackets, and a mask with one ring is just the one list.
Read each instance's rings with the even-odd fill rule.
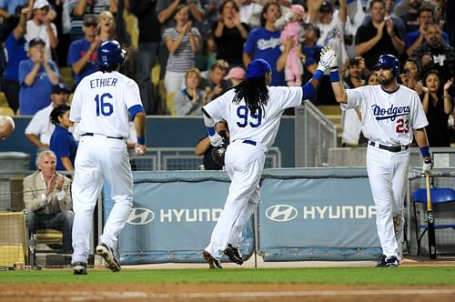
[[369,140],[387,146],[407,146],[413,130],[428,125],[419,95],[399,85],[393,93],[381,86],[361,86],[347,89],[348,104],[344,109],[359,106],[362,114],[362,132]]

